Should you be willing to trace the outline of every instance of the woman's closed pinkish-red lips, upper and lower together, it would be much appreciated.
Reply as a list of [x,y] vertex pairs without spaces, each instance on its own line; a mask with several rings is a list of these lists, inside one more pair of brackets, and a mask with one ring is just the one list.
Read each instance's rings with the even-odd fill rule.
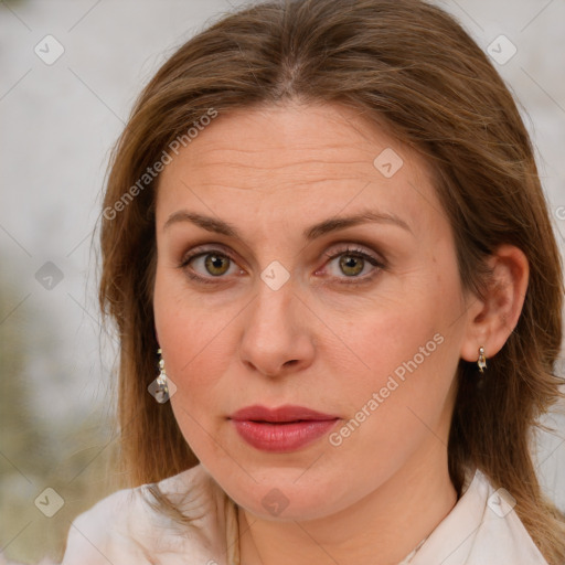
[[305,447],[327,434],[340,419],[303,406],[248,406],[228,418],[237,434],[264,451],[288,452]]

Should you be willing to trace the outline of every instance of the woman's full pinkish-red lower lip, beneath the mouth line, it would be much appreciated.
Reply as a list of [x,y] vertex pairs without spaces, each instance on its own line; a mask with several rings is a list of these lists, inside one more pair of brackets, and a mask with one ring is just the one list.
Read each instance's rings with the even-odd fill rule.
[[295,451],[327,434],[338,419],[302,420],[289,424],[233,419],[245,441],[264,451]]

